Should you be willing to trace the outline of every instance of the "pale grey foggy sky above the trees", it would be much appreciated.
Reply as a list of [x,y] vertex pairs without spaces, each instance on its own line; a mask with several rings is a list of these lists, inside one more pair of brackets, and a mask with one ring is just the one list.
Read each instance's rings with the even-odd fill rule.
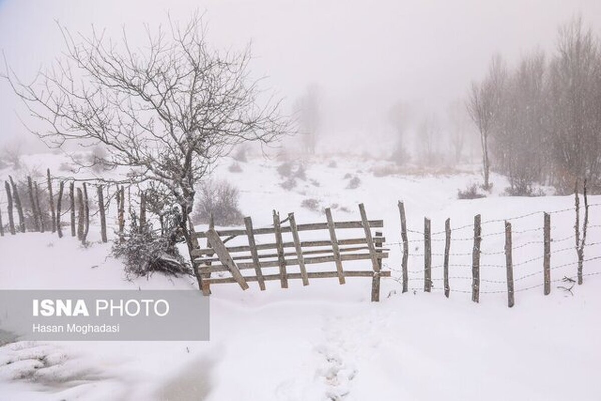
[[[310,83],[322,94],[326,135],[382,135],[398,99],[444,114],[466,94],[494,53],[511,61],[531,49],[554,49],[558,25],[579,14],[601,31],[599,0],[0,0],[0,50],[24,80],[62,49],[55,20],[71,31],[91,24],[135,37],[141,24],[185,21],[204,12],[217,49],[252,41],[252,71],[291,106]],[[4,65],[0,67],[4,70]],[[289,111],[289,110],[285,110]],[[0,81],[0,142],[28,119]]]

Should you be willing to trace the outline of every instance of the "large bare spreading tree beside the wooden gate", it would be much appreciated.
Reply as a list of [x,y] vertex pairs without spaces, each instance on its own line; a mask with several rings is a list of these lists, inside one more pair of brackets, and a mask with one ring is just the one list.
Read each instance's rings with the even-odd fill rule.
[[45,123],[44,131],[30,130],[53,147],[102,145],[104,166],[127,167],[122,182],[160,185],[180,208],[179,226],[192,247],[195,185],[214,161],[239,143],[267,144],[288,131],[279,101],[249,79],[249,49],[209,49],[197,14],[184,26],[146,26],[142,47],[133,47],[125,31],[112,41],[94,30],[85,36],[59,29],[64,56],[34,82],[24,83],[5,62],[5,79]]

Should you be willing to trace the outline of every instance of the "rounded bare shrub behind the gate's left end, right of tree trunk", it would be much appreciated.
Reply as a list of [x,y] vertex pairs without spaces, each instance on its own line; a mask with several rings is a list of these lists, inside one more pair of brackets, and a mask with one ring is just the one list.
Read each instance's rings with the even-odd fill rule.
[[227,181],[206,181],[198,192],[192,222],[208,224],[211,215],[218,226],[242,225],[244,216],[239,209],[240,192]]

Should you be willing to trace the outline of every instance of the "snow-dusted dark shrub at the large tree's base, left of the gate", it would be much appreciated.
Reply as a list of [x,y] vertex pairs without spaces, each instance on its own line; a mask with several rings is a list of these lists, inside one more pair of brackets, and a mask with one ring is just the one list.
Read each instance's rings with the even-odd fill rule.
[[169,219],[163,235],[154,231],[150,223],[140,227],[132,213],[129,230],[122,238],[113,242],[112,256],[123,261],[127,279],[150,276],[160,272],[168,276],[191,274],[192,270],[177,250],[180,236],[177,231],[177,215],[165,216]]

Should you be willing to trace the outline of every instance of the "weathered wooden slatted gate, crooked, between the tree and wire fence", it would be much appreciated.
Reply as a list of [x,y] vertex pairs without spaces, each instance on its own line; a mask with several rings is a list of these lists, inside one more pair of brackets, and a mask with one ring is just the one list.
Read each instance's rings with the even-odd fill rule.
[[[371,300],[379,301],[380,277],[390,276],[390,271],[382,271],[388,249],[382,247],[382,232],[372,229],[381,229],[383,221],[368,220],[363,204],[359,212],[360,221],[334,222],[328,208],[326,222],[297,224],[294,213],[280,220],[273,211],[273,226],[269,228],[254,228],[251,218],[246,217],[245,229],[209,228],[197,233],[197,238],[206,239],[206,248],[192,252],[203,294],[210,294],[210,285],[221,283],[237,283],[245,290],[249,282],[257,282],[263,291],[270,280],[278,280],[281,288],[288,288],[288,280],[295,279],[306,286],[313,279],[337,278],[344,284],[346,277],[371,277]],[[243,244],[226,245],[244,237]],[[344,270],[343,262],[349,261],[365,261],[371,268]],[[334,264],[335,270],[323,264]]]

